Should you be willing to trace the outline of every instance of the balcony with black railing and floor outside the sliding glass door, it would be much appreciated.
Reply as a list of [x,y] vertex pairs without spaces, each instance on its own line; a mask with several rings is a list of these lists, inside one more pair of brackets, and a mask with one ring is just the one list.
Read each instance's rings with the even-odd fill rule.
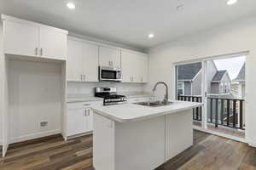
[[[201,96],[178,95],[178,100],[202,102]],[[207,97],[207,129],[244,138],[245,100]],[[202,108],[193,110],[195,126],[201,126]]]

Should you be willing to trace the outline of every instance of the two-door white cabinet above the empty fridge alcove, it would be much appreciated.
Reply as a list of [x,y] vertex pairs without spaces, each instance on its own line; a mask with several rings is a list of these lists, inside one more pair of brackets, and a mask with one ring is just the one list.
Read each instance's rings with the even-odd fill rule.
[[2,15],[4,53],[67,59],[67,32],[27,20]]

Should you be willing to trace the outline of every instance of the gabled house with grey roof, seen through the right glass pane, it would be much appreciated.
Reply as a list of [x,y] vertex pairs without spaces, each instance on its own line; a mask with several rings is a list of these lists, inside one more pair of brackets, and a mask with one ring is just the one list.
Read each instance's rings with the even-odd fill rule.
[[230,96],[231,79],[228,71],[217,71],[212,77],[211,94],[218,96]]

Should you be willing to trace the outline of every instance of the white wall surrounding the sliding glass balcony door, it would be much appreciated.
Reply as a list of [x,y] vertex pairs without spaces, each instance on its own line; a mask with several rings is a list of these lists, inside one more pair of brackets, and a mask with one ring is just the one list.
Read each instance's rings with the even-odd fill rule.
[[[175,42],[166,42],[149,49],[149,83],[151,90],[155,82],[167,82],[174,86],[172,63],[189,59],[249,51],[247,57],[247,105],[246,105],[246,138],[256,146],[256,114],[254,101],[256,98],[256,18],[247,18],[218,26],[208,31],[183,37]],[[160,91],[162,93],[162,90]],[[173,95],[173,91],[170,92]]]

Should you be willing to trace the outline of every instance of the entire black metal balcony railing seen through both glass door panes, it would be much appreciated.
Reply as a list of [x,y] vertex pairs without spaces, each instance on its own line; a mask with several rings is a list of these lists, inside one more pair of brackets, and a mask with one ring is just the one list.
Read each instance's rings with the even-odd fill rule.
[[[178,95],[177,100],[202,102],[201,96]],[[244,130],[244,99],[207,97],[207,122]],[[202,108],[193,109],[193,119],[201,122]]]

